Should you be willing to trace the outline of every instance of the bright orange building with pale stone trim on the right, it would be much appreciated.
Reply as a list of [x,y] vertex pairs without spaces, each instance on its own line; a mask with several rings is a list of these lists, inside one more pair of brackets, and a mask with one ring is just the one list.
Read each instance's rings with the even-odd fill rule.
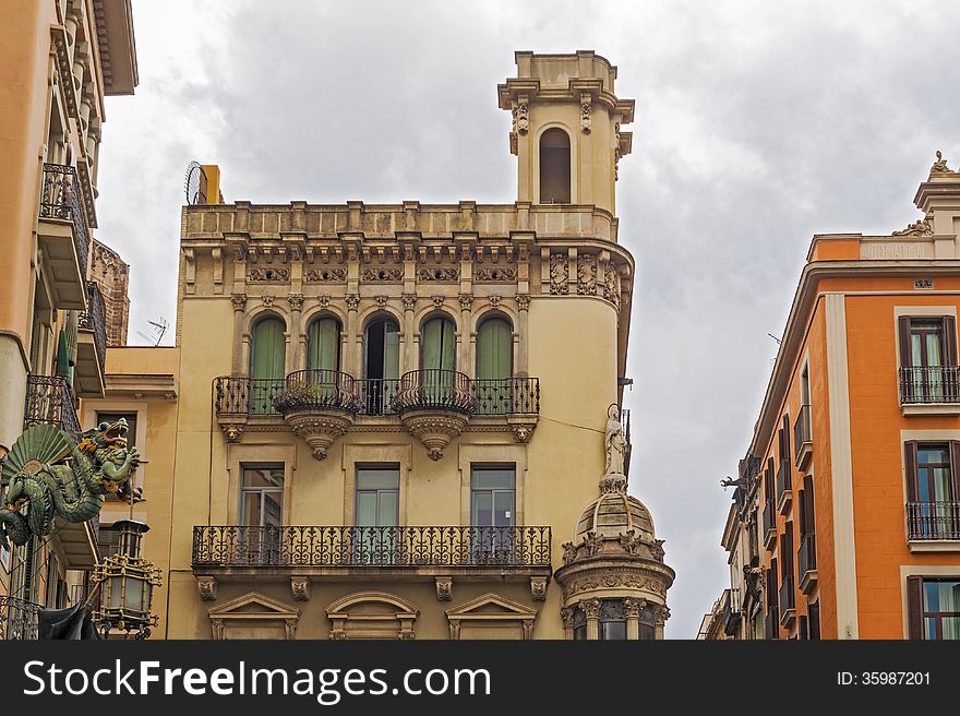
[[960,172],[890,236],[817,235],[722,545],[719,632],[960,639]]

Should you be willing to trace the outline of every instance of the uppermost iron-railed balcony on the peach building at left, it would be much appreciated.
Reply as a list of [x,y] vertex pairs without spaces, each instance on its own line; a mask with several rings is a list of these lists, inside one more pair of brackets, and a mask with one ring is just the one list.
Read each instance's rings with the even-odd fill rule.
[[84,310],[91,237],[73,167],[44,165],[37,243],[44,254],[53,308]]

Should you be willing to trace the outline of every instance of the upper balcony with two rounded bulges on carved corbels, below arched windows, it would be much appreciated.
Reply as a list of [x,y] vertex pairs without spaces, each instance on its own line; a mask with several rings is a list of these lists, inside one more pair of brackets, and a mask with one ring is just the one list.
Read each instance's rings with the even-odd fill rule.
[[[265,426],[283,416],[319,458],[358,417],[373,423],[399,420],[437,458],[471,420],[485,429],[512,430],[521,442],[529,440],[540,411],[540,381],[471,379],[452,370],[362,380],[316,369],[296,371],[285,380],[231,375],[214,380],[214,410],[228,440],[239,440],[244,430],[269,429]],[[447,434],[439,434],[437,426],[446,426]]]

